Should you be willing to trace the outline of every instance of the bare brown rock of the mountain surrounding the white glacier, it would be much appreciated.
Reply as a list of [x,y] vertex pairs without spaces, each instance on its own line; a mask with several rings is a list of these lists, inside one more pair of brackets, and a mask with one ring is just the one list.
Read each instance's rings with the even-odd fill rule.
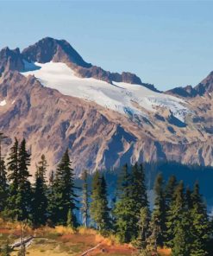
[[[67,147],[77,174],[85,168],[114,169],[135,161],[174,160],[213,165],[212,74],[195,88],[184,90],[190,95],[195,90],[196,95],[181,95],[187,98],[185,104],[191,110],[185,122],[161,106],[156,106],[155,112],[143,110],[146,115],[137,118],[86,99],[63,95],[42,86],[34,76],[25,77],[19,72],[24,68],[24,60],[65,61],[84,77],[90,74],[80,74],[79,70],[96,70],[94,66],[87,66],[91,64],[74,50],[75,58],[59,48],[60,43],[45,39],[22,54],[18,49],[8,48],[0,52],[0,131],[10,138],[7,148],[15,137],[27,139],[32,153],[32,172],[41,154],[47,156],[49,170],[54,170]],[[134,74],[109,73],[106,77],[109,81],[139,82]],[[176,92],[176,95],[180,94]]]

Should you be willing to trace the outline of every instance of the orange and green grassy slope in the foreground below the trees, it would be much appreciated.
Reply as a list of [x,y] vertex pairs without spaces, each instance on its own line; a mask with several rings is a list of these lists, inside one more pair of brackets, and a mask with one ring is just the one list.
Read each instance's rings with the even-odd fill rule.
[[[9,239],[9,244],[20,238],[19,224],[11,224],[0,222],[0,245],[6,243]],[[110,256],[125,256],[134,255],[135,249],[129,245],[120,245],[116,243],[115,238],[103,238],[97,234],[95,230],[85,229],[81,227],[78,231],[73,232],[67,227],[42,227],[36,230],[28,228],[26,236],[34,235],[34,240],[31,246],[27,248],[27,255],[29,256],[71,256],[81,255],[91,247],[100,246],[88,255],[110,255]],[[17,255],[17,250],[11,253],[12,256]],[[168,256],[170,253],[166,250],[161,250],[160,255]]]

